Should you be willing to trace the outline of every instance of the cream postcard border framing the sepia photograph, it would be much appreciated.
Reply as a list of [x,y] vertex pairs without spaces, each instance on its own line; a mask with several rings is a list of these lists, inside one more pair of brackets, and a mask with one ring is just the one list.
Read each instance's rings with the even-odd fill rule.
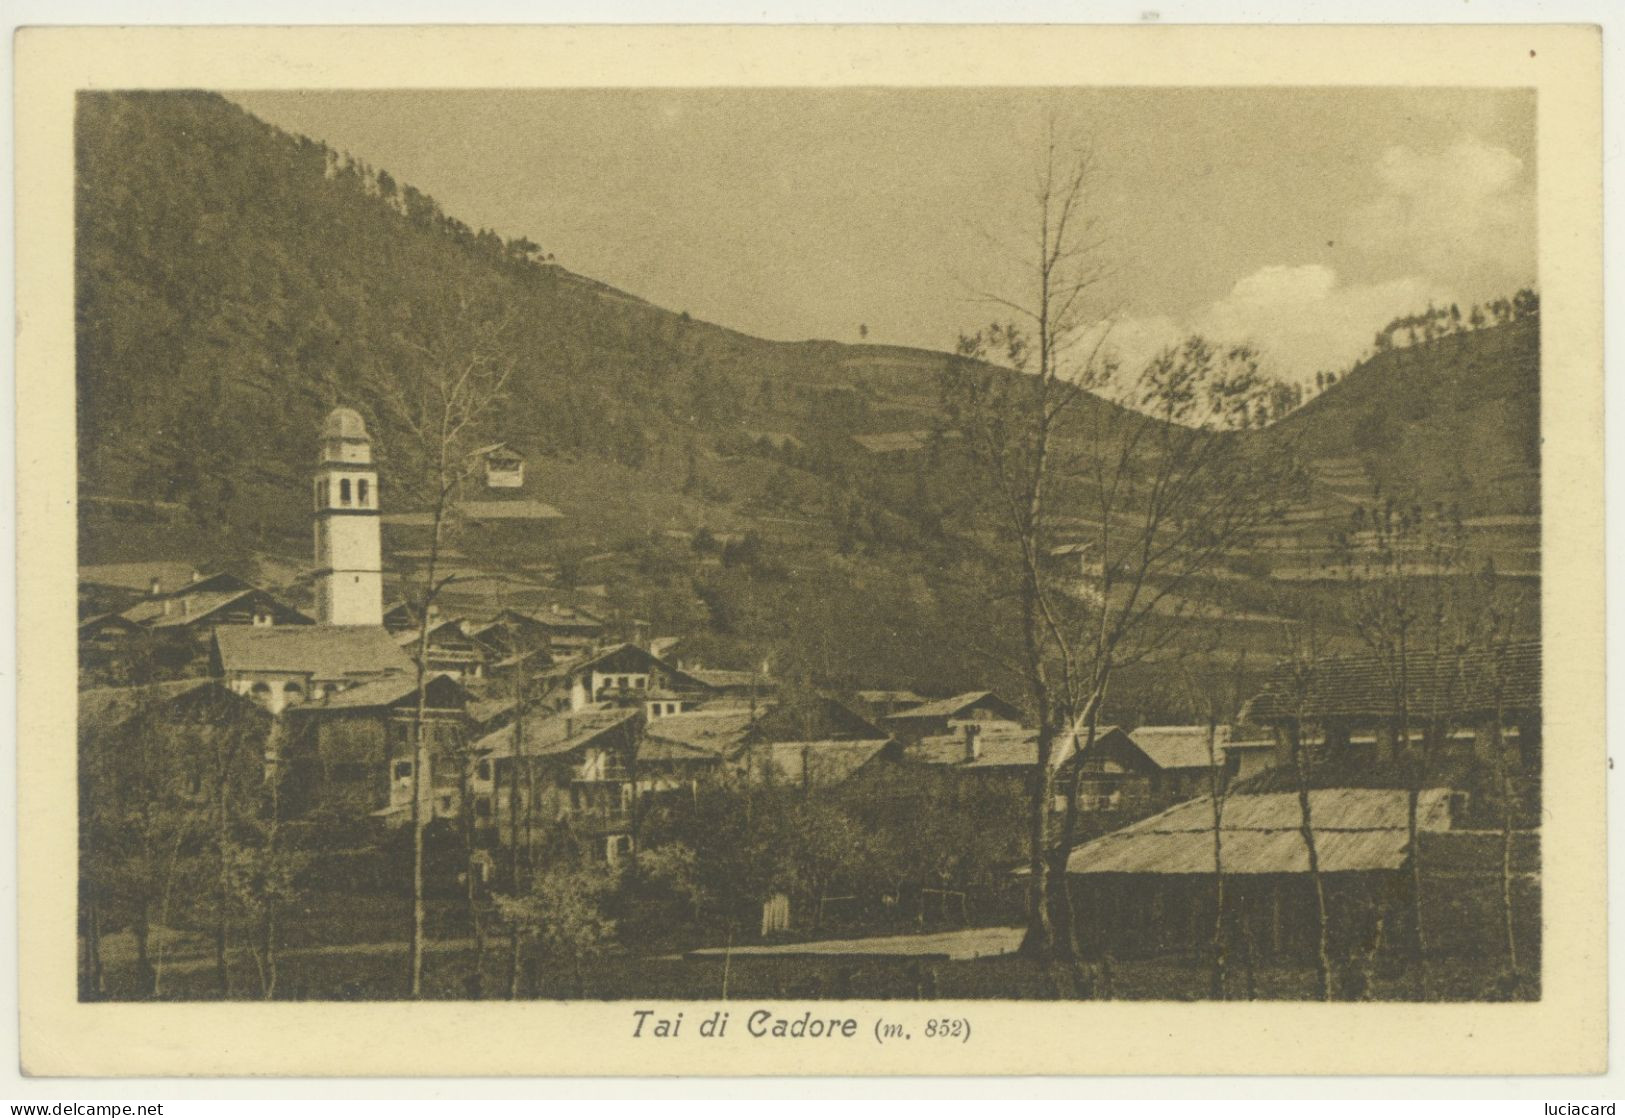
[[[1601,31],[36,28],[16,62],[21,1066],[36,1076],[1588,1074],[1606,1069]],[[1547,774],[1537,1004],[928,1003],[968,1045],[634,1040],[663,1003],[80,1004],[73,98],[122,88],[1537,89]],[[686,1003],[691,1019],[718,1008]],[[764,1006],[791,1003],[760,1003]],[[871,1022],[908,1003],[809,1003]],[[757,1003],[731,1003],[738,1011]]]

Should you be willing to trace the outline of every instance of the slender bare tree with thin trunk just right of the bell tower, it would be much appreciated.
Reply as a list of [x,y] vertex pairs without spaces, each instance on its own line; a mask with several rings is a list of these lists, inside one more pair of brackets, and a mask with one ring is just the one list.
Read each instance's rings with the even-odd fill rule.
[[458,297],[444,318],[419,333],[401,333],[405,367],[380,377],[380,398],[393,426],[408,439],[400,447],[396,479],[403,491],[427,504],[429,557],[410,593],[418,616],[418,704],[411,723],[413,777],[413,926],[410,991],[422,993],[424,954],[424,827],[432,814],[431,746],[427,723],[427,663],[431,614],[452,582],[440,575],[440,549],[457,514],[465,483],[478,468],[473,450],[505,398],[515,356],[509,323],[471,297]]

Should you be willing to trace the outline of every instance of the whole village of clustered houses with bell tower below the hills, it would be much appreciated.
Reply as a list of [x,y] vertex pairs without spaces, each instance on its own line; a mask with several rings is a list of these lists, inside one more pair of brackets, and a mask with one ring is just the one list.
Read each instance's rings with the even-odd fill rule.
[[[442,996],[582,996],[587,960],[619,967],[606,986],[627,994],[647,993],[639,973],[720,964],[715,990],[689,993],[726,996],[730,968],[738,990],[752,960],[786,959],[822,962],[812,985],[762,978],[769,993],[930,996],[938,965],[1020,956],[1035,790],[1042,887],[1064,890],[1095,996],[1118,991],[1102,962],[1126,990],[1133,960],[1168,959],[1193,991],[1138,996],[1271,996],[1271,967],[1370,996],[1409,973],[1419,921],[1436,970],[1471,972],[1422,996],[1484,996],[1484,957],[1537,957],[1537,642],[1417,650],[1401,704],[1376,658],[1342,655],[1285,665],[1204,723],[1040,741],[1020,697],[791,689],[772,665],[697,663],[686,634],[618,626],[580,595],[468,614],[390,600],[410,583],[385,564],[395,510],[366,421],[335,408],[312,447],[302,587],[185,562],[80,569],[84,996],[250,982],[398,996],[382,978],[278,986],[276,957],[291,975],[301,951],[333,947],[310,931],[322,905],[401,912],[413,840],[429,965],[437,939],[478,952]],[[535,515],[523,455],[474,457],[478,515]],[[314,604],[294,604],[306,592]],[[1420,777],[1401,764],[1412,739]],[[154,827],[153,801],[177,819]],[[136,845],[156,847],[132,853],[128,826],[98,830],[102,811],[140,812]],[[109,834],[122,852],[96,848]],[[109,858],[141,860],[135,881]],[[214,884],[172,902],[210,858]],[[515,899],[538,874],[564,876]],[[348,931],[358,959],[405,949],[392,920]],[[488,965],[488,941],[505,962]],[[574,978],[549,986],[561,968]]]

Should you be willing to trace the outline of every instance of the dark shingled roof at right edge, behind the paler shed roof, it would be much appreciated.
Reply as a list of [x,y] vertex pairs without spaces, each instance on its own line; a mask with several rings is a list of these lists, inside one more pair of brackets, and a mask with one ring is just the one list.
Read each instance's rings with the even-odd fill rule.
[[[1435,656],[1412,652],[1406,660],[1406,691],[1414,717],[1433,710],[1458,717],[1497,708],[1508,715],[1537,712],[1540,642],[1519,640],[1497,653],[1472,650]],[[1394,717],[1391,665],[1378,656],[1329,656],[1303,673],[1284,665],[1248,702],[1243,720],[1279,723],[1300,713],[1310,720]]]

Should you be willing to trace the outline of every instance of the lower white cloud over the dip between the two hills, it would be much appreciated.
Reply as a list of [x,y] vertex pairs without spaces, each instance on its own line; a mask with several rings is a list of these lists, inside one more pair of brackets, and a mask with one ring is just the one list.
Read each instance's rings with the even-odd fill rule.
[[1396,315],[1422,310],[1428,302],[1448,306],[1453,297],[1448,288],[1419,276],[1344,284],[1324,265],[1269,265],[1185,320],[1168,315],[1115,320],[1105,351],[1124,370],[1139,370],[1160,348],[1199,333],[1212,341],[1251,343],[1277,375],[1308,380],[1318,369],[1341,370],[1357,361]]

